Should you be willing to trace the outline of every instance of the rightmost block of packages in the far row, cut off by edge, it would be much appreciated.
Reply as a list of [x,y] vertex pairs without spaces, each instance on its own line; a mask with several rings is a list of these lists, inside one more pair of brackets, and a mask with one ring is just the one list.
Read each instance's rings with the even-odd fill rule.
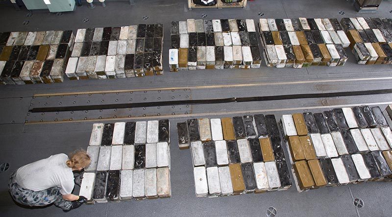
[[392,19],[343,18],[341,24],[358,64],[392,63]]

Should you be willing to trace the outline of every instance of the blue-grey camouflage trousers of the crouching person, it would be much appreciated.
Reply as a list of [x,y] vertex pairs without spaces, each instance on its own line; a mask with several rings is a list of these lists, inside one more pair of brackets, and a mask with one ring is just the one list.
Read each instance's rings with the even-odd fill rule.
[[15,175],[16,171],[8,180],[8,191],[16,202],[26,206],[47,206],[53,203],[63,210],[71,209],[72,202],[63,199],[59,187],[31,191],[19,186],[15,181]]

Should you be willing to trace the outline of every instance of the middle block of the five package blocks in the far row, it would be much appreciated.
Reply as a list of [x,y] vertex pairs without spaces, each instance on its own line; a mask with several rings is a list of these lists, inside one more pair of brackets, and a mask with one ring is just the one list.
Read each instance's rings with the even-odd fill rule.
[[170,70],[259,68],[257,38],[249,19],[172,22]]

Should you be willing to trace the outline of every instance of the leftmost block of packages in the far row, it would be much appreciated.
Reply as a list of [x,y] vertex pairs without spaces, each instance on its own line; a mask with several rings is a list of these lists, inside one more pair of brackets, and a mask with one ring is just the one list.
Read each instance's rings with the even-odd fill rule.
[[0,84],[63,82],[72,31],[0,33]]

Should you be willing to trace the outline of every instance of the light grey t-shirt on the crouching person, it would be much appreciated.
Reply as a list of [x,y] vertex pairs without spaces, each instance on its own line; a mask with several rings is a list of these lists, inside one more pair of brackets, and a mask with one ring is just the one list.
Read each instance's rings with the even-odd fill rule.
[[72,168],[67,166],[67,160],[68,156],[61,153],[27,164],[16,172],[16,183],[32,191],[60,187],[61,195],[69,195],[74,183]]

